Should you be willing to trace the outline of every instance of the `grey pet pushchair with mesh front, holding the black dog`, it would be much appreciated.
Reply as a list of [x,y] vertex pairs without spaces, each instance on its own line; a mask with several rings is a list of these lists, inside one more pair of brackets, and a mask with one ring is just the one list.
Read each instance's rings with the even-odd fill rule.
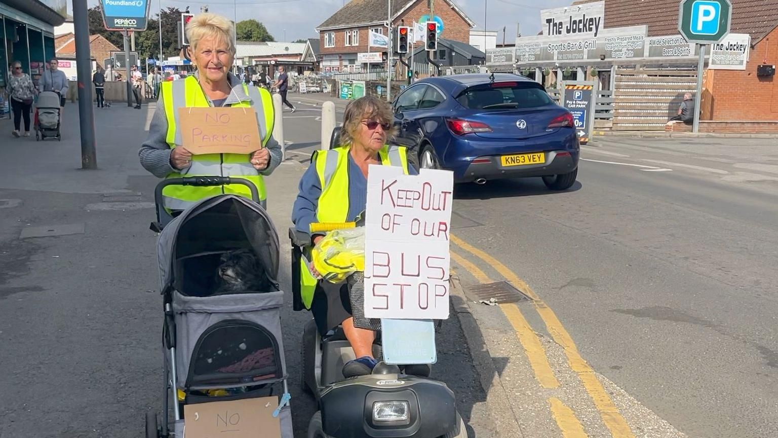
[[[162,205],[166,185],[243,184],[236,195],[202,200],[172,218]],[[279,238],[251,182],[229,177],[166,179],[157,185],[157,245],[164,304],[165,397],[161,425],[146,414],[146,438],[184,436],[184,405],[274,397],[282,438],[293,438],[281,334]],[[155,227],[152,227],[155,228]],[[270,291],[212,295],[223,253],[248,249],[265,268]],[[173,402],[173,424],[168,405]],[[278,407],[278,408],[277,408]]]

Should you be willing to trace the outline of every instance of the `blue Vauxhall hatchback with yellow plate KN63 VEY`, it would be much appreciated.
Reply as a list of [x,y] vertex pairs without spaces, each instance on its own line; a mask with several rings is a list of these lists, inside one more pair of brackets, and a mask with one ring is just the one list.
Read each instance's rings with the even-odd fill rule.
[[394,100],[394,141],[421,168],[454,182],[541,177],[549,189],[576,182],[580,145],[573,115],[531,79],[509,73],[422,79]]

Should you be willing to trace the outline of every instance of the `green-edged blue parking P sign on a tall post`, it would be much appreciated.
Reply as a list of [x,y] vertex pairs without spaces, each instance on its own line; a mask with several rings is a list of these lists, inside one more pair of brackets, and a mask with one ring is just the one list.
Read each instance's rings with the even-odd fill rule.
[[729,34],[732,22],[730,0],[681,0],[678,31],[686,41],[712,44]]

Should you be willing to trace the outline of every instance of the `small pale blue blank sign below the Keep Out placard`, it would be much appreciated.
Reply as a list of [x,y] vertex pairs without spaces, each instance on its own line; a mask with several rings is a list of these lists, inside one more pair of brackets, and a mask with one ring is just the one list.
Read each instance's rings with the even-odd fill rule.
[[433,320],[381,320],[384,363],[432,365],[437,362]]

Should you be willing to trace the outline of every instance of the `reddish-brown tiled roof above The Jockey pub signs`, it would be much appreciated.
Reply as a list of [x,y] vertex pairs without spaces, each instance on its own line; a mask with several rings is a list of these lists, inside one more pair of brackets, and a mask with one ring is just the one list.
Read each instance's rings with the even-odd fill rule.
[[[579,0],[574,5],[597,0]],[[759,42],[778,26],[778,0],[730,0],[731,31]],[[648,25],[648,35],[678,34],[678,0],[605,0],[605,27]]]

